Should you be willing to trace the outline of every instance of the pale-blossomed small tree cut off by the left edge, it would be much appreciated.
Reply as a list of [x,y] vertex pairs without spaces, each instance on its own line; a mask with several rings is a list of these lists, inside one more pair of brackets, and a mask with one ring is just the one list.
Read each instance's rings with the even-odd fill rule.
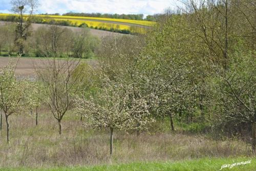
[[10,140],[9,116],[20,113],[29,106],[26,98],[29,90],[28,83],[24,80],[17,80],[14,75],[15,68],[15,63],[9,63],[0,71],[0,108],[5,114],[8,143]]

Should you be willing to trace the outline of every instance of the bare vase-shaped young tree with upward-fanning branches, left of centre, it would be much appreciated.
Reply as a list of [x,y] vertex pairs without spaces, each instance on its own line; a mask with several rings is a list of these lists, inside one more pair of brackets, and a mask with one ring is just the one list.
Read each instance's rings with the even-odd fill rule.
[[62,133],[61,120],[68,111],[71,104],[71,97],[78,90],[80,75],[75,68],[79,60],[71,58],[47,59],[44,69],[37,70],[37,76],[42,83],[42,99],[49,106],[54,118],[58,121],[59,134]]

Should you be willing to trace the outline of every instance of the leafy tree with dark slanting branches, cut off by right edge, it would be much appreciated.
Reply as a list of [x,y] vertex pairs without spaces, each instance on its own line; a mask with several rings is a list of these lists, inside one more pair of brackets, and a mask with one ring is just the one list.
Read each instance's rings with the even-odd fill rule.
[[[209,80],[211,108],[215,127],[231,135],[251,137],[252,150],[255,151],[255,54],[239,54],[232,57],[229,70],[218,69],[218,74]],[[212,105],[213,106],[213,105]],[[251,135],[250,135],[251,134]]]

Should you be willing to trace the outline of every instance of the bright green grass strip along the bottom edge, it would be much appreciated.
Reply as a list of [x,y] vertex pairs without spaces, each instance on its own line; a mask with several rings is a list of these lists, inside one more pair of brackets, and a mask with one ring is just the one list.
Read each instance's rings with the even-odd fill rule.
[[[233,164],[242,161],[251,160],[251,163],[239,166],[233,166],[232,168],[223,168],[221,169],[223,164]],[[56,167],[56,168],[2,168],[0,170],[40,170],[40,171],[60,171],[60,170],[84,170],[84,171],[164,171],[164,170],[176,170],[176,171],[189,171],[189,170],[247,170],[253,171],[256,168],[256,159],[255,158],[204,158],[198,160],[185,160],[180,162],[150,162],[150,163],[130,163],[130,164],[115,164],[115,165],[101,165],[101,166],[91,166],[91,167]]]

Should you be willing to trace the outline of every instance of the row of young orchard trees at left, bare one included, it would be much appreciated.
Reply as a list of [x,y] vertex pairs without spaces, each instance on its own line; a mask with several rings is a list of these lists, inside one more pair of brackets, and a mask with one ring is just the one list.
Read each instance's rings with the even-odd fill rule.
[[[53,54],[55,56],[55,54]],[[50,57],[50,56],[48,56]],[[23,114],[36,108],[36,125],[38,124],[38,107],[47,105],[59,125],[72,102],[72,97],[79,90],[79,83],[85,82],[82,69],[77,70],[78,60],[49,59],[44,68],[36,70],[36,80],[20,79],[15,76],[17,61],[10,62],[0,70],[0,109],[5,114],[7,142],[9,143],[9,116]],[[81,84],[82,85],[82,84]],[[2,114],[1,114],[2,116]],[[1,121],[2,128],[2,121]]]

